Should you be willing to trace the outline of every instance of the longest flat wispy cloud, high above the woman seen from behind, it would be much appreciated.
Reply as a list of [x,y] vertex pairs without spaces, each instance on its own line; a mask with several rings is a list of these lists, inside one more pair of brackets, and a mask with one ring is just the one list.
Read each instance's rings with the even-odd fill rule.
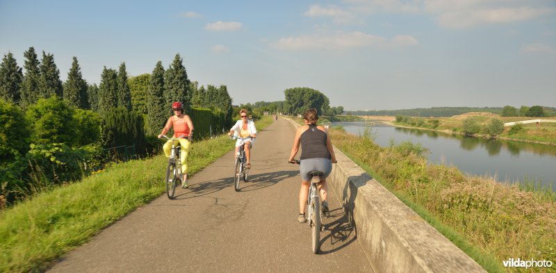
[[383,38],[377,35],[361,33],[337,33],[334,35],[301,35],[297,37],[280,38],[272,46],[286,50],[311,49],[355,49],[361,47],[405,47],[419,44],[409,35],[398,35],[394,38]]

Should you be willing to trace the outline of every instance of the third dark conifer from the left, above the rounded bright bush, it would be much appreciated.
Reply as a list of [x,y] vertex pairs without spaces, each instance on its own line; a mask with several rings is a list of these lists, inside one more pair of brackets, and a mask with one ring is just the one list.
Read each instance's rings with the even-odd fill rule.
[[63,97],[63,86],[60,81],[60,70],[54,63],[54,55],[42,51],[42,62],[40,63],[40,97],[49,98],[54,95],[61,99]]

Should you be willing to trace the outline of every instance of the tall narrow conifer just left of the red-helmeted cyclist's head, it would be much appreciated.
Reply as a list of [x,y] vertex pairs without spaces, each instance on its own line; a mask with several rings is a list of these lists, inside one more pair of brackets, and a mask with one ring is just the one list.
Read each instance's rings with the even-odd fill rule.
[[147,135],[158,135],[170,115],[170,106],[164,98],[164,67],[158,61],[152,72],[147,90]]

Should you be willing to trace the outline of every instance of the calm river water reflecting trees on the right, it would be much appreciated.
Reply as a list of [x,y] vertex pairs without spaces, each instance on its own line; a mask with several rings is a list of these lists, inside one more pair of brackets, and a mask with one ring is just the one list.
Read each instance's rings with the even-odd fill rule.
[[[362,135],[362,122],[337,122],[348,133]],[[411,140],[430,149],[430,163],[453,165],[468,174],[496,176],[500,182],[523,181],[524,176],[556,191],[556,146],[510,140],[487,140],[434,131],[405,129],[383,124],[372,124],[375,142],[388,147],[391,139],[396,144]]]

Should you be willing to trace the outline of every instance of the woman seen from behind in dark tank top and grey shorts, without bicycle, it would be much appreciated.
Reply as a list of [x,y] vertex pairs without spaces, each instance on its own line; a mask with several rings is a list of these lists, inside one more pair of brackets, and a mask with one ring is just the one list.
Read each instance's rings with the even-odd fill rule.
[[306,222],[305,204],[307,202],[309,185],[311,184],[311,177],[309,177],[309,172],[311,171],[320,171],[323,174],[322,180],[318,183],[320,198],[322,199],[321,208],[323,213],[329,211],[326,178],[332,172],[332,163],[336,163],[336,155],[332,148],[330,136],[322,126],[316,125],[318,122],[317,110],[315,108],[305,110],[303,118],[305,125],[298,128],[295,132],[288,160],[291,163],[295,162],[294,158],[300,149],[301,143],[300,173],[302,183],[300,188],[300,215],[297,217],[297,221],[300,223]]

